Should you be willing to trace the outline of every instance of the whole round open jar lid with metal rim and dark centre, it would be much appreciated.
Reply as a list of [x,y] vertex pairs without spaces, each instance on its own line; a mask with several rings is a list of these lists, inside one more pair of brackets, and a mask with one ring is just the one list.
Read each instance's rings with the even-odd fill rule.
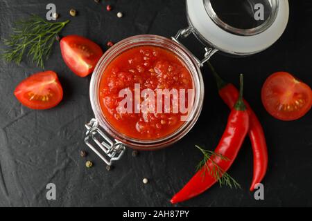
[[288,0],[187,0],[189,32],[232,55],[261,52],[281,37]]

